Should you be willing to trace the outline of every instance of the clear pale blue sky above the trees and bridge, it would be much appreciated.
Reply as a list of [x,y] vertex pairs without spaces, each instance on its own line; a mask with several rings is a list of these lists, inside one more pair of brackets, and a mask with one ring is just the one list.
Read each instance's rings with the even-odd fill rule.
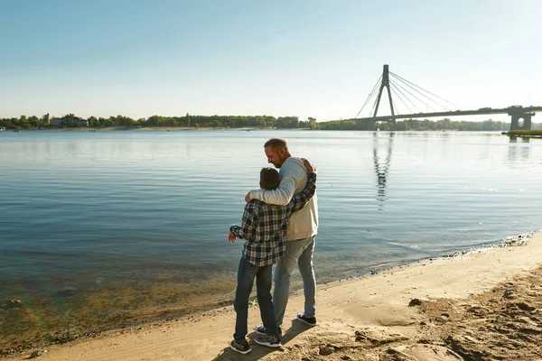
[[463,109],[542,106],[540,19],[539,0],[0,0],[0,116],[349,118],[385,63]]

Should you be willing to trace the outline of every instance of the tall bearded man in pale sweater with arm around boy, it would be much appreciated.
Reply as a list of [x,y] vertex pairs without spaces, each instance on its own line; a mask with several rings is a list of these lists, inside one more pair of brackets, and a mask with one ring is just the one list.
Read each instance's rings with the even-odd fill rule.
[[[264,144],[267,162],[280,169],[280,186],[276,190],[251,190],[246,201],[259,199],[269,204],[285,205],[294,194],[304,190],[307,171],[299,158],[294,158],[288,151],[284,139],[273,138]],[[304,312],[297,315],[297,320],[309,326],[316,325],[315,297],[316,280],[314,278],[313,253],[314,237],[318,231],[318,202],[316,195],[307,205],[292,215],[286,232],[285,255],[276,264],[275,291],[273,303],[276,310],[276,324],[279,328],[285,318],[286,304],[290,289],[290,276],[297,263],[304,285]],[[267,333],[266,325],[257,326],[258,334]]]

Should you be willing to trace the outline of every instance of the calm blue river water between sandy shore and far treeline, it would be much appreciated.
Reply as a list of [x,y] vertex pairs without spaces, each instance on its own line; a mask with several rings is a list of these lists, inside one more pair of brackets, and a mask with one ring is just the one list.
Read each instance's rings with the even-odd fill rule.
[[228,228],[267,165],[263,143],[275,136],[319,169],[318,282],[540,228],[537,139],[3,133],[0,348],[231,301],[242,245],[228,243]]

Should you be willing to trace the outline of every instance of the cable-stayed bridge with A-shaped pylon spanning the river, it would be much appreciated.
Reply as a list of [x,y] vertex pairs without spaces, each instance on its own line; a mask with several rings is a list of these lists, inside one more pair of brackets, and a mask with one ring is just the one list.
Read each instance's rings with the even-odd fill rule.
[[[391,116],[378,116],[378,108],[380,106],[384,88],[387,89]],[[399,114],[397,111],[397,101],[393,101],[392,93],[407,109],[403,114]],[[384,96],[386,97],[386,95]],[[358,117],[373,99],[374,103],[370,111],[372,116]],[[426,106],[427,111],[425,113],[420,109],[420,103]],[[542,112],[542,106],[509,106],[498,109],[482,107],[475,110],[447,110],[450,107],[459,108],[460,106],[456,106],[452,102],[444,99],[444,97],[439,97],[429,90],[419,87],[413,82],[398,76],[389,71],[388,65],[384,65],[382,75],[378,78],[377,83],[372,88],[369,97],[367,97],[363,106],[361,106],[355,120],[359,122],[368,122],[370,126],[371,124],[374,125],[375,122],[391,122],[395,125],[396,119],[508,114],[511,117],[510,130],[528,130],[531,129],[531,118],[535,116],[537,112]],[[418,110],[418,112],[415,113],[413,109]],[[431,109],[432,111],[428,111],[428,109]],[[446,110],[443,111],[442,109]]]

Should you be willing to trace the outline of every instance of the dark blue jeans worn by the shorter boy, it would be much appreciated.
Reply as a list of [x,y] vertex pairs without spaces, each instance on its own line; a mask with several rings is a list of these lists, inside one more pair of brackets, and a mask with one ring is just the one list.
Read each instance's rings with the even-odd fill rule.
[[241,343],[248,333],[248,298],[252,292],[254,277],[256,277],[257,302],[259,304],[262,321],[267,330],[267,335],[278,337],[276,325],[275,307],[271,300],[273,264],[258,267],[250,264],[245,257],[241,257],[238,270],[238,287],[235,292],[233,306],[237,312],[235,322],[235,342]]

